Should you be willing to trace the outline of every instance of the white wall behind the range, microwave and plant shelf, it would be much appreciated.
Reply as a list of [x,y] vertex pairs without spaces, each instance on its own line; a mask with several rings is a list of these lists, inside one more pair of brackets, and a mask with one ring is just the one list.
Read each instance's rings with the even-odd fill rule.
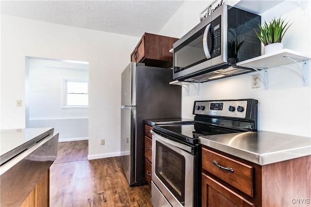
[[[200,21],[199,14],[211,1],[185,1],[160,34],[182,37]],[[270,21],[281,16],[294,22],[284,36],[284,48],[311,54],[311,2],[308,14],[302,15],[301,1],[286,0],[261,14]],[[301,63],[300,63],[301,65]],[[309,82],[310,82],[309,61]],[[269,89],[263,84],[251,88],[251,75],[244,74],[201,84],[200,96],[190,88],[190,96],[183,89],[182,115],[192,118],[194,100],[255,98],[259,100],[259,130],[268,130],[300,136],[311,136],[311,89],[302,85],[302,76],[295,64],[269,69]],[[261,72],[261,75],[263,73]]]

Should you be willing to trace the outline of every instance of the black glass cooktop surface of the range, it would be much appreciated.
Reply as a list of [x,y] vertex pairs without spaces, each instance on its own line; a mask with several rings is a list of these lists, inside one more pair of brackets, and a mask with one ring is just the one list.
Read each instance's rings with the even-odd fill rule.
[[187,143],[198,143],[199,136],[226,134],[237,132],[235,130],[212,127],[204,124],[174,124],[153,126],[154,130]]

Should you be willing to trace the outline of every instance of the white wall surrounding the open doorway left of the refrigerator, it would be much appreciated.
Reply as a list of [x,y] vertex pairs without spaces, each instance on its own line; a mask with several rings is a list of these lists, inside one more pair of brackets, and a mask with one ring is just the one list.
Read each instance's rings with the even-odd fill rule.
[[[120,155],[121,72],[140,38],[1,14],[1,128],[24,128],[25,57],[89,63],[89,159]],[[100,145],[105,139],[105,145]]]

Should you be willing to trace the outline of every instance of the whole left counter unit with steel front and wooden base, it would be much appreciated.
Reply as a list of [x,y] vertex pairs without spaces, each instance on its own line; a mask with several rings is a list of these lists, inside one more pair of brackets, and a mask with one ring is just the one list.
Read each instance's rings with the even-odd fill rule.
[[50,206],[50,166],[58,137],[53,128],[1,130],[1,159],[6,160],[0,166],[1,207]]

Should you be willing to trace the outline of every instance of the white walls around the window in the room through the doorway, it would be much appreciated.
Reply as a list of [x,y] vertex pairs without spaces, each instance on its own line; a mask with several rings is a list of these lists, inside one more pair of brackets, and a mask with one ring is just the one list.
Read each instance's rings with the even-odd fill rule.
[[[88,81],[86,69],[70,68],[64,63],[62,67],[33,65],[29,60],[29,118],[88,118],[88,109],[62,109],[64,80]],[[67,67],[66,67],[67,66]],[[27,94],[27,92],[26,92]]]

